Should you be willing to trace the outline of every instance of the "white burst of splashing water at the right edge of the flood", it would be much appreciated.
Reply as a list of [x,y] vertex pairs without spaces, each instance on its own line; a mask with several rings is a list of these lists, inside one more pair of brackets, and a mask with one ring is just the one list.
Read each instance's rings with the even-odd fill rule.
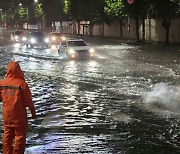
[[143,99],[145,103],[178,112],[180,110],[180,87],[157,83],[150,92],[143,95]]

